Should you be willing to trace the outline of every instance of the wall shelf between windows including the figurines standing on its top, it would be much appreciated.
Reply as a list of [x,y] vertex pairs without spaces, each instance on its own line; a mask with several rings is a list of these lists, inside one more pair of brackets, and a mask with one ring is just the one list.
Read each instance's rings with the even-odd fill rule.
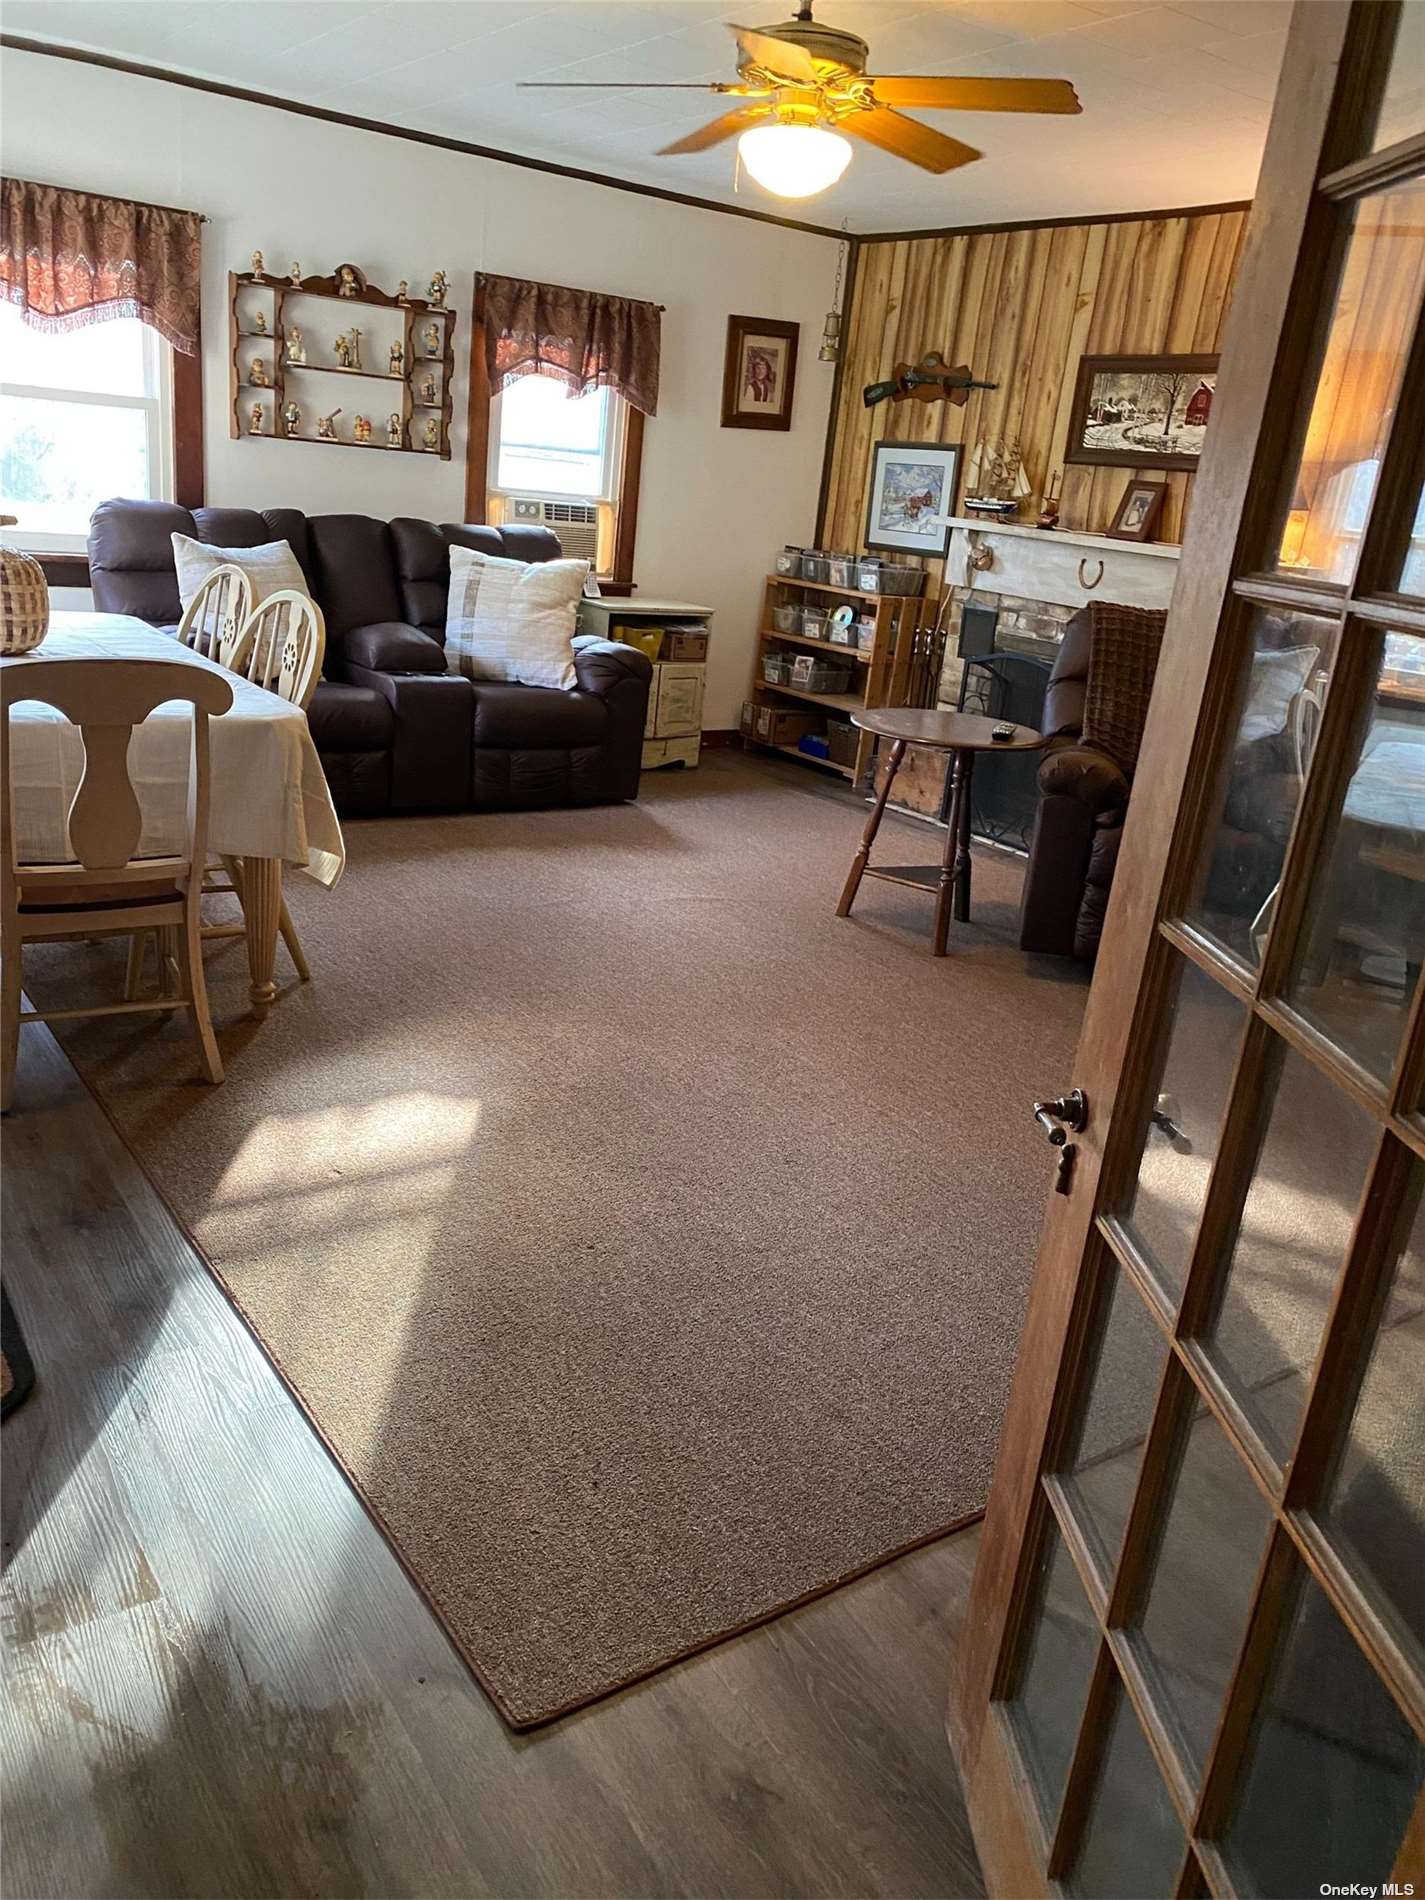
[[[410,296],[405,279],[395,294],[378,291],[355,264],[338,264],[329,277],[304,277],[293,264],[283,277],[255,251],[249,272],[228,272],[230,433],[448,462],[456,369],[448,289],[443,270],[426,296]],[[319,397],[314,376],[391,384],[399,407],[382,403],[384,416],[367,416],[355,399],[338,401],[340,384]]]

